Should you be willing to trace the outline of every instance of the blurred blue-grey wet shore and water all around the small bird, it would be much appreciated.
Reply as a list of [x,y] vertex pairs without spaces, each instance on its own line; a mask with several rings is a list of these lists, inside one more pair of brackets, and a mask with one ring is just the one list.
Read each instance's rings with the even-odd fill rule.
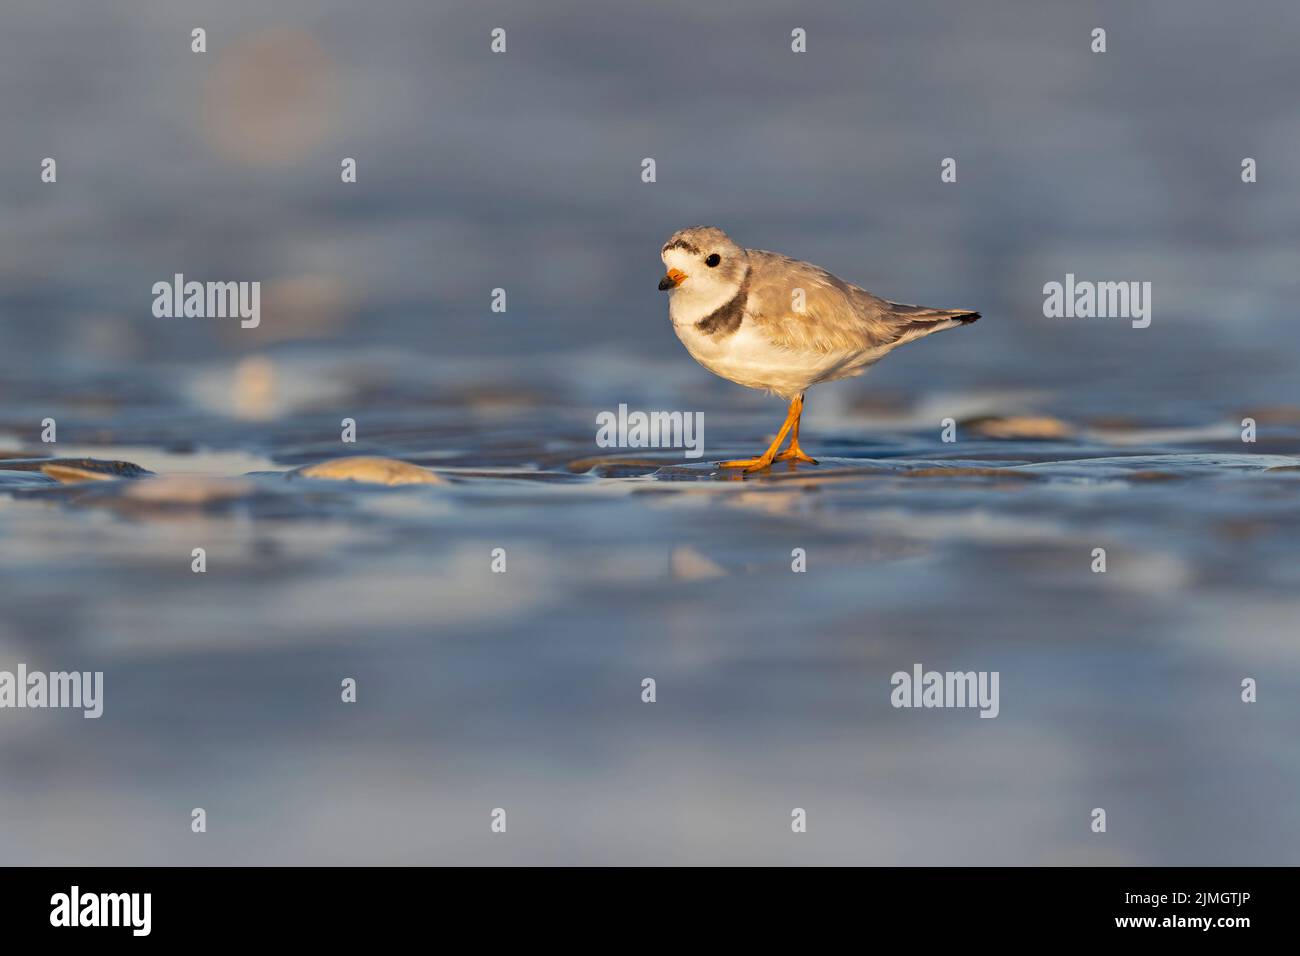
[[[1284,0],[6,0],[0,454],[188,484],[0,471],[0,667],[107,675],[100,721],[0,713],[0,862],[1295,862],[1297,35]],[[780,423],[672,334],[696,224],[984,319],[814,390],[823,471],[597,459],[621,402],[703,411],[710,458]],[[260,326],[153,317],[174,273],[260,281]],[[1150,328],[1044,319],[1066,273],[1152,282]],[[459,471],[276,473],[343,454]],[[1001,717],[890,709],[916,661],[1001,670]]]

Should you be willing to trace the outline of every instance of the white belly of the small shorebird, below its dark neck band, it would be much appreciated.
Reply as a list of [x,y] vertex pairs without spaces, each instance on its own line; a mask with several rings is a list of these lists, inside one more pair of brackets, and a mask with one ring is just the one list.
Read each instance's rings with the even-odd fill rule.
[[[748,321],[729,336],[706,336],[694,323],[672,323],[677,338],[701,365],[714,375],[750,389],[766,389],[785,399],[810,385],[862,375],[880,355],[816,352],[780,349]],[[883,355],[884,352],[881,352]]]

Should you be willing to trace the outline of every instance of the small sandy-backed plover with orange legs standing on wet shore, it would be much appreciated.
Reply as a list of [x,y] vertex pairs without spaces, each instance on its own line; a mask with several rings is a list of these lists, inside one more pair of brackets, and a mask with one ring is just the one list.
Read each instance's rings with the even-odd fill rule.
[[[680,229],[659,250],[668,317],[686,351],[714,375],[790,403],[776,441],[758,458],[720,462],[760,471],[816,462],[800,447],[803,393],[862,375],[900,345],[967,325],[967,308],[904,306],[798,259],[737,246],[722,229]],[[790,447],[776,450],[790,434]]]

